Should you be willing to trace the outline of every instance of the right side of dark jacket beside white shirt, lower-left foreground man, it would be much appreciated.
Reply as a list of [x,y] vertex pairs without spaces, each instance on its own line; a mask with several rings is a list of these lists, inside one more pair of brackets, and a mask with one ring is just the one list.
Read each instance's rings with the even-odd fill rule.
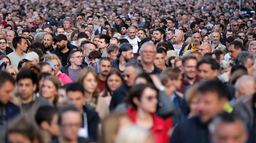
[[84,106],[84,112],[86,113],[86,116],[87,116],[89,138],[92,139],[93,141],[96,141],[97,128],[98,128],[98,123],[100,121],[100,117],[96,111],[93,111],[86,106]]

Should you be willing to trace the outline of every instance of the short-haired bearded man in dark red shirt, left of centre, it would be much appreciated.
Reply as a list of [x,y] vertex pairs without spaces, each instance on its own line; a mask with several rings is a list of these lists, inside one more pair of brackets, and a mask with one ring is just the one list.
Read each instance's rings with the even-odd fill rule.
[[104,90],[105,81],[107,79],[107,75],[111,69],[111,62],[108,58],[101,58],[98,64],[99,69],[99,81],[98,81],[98,89],[100,92]]

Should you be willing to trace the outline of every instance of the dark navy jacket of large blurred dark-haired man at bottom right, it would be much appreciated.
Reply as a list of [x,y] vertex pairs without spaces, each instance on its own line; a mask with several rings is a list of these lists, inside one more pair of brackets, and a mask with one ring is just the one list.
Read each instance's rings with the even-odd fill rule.
[[192,117],[181,121],[172,133],[170,143],[208,143],[209,131],[208,125],[203,124],[200,118]]

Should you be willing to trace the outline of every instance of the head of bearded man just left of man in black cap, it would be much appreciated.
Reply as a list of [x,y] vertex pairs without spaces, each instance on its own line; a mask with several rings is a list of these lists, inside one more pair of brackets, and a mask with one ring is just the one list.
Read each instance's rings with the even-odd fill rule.
[[44,52],[51,53],[54,49],[53,49],[53,39],[54,39],[54,35],[52,32],[46,32],[44,35]]

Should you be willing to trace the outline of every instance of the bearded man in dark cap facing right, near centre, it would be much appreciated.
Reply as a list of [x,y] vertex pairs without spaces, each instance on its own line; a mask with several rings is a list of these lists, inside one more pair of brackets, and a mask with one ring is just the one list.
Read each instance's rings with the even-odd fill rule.
[[121,44],[116,56],[116,60],[111,61],[111,66],[123,72],[125,64],[133,59],[133,46],[129,43]]

